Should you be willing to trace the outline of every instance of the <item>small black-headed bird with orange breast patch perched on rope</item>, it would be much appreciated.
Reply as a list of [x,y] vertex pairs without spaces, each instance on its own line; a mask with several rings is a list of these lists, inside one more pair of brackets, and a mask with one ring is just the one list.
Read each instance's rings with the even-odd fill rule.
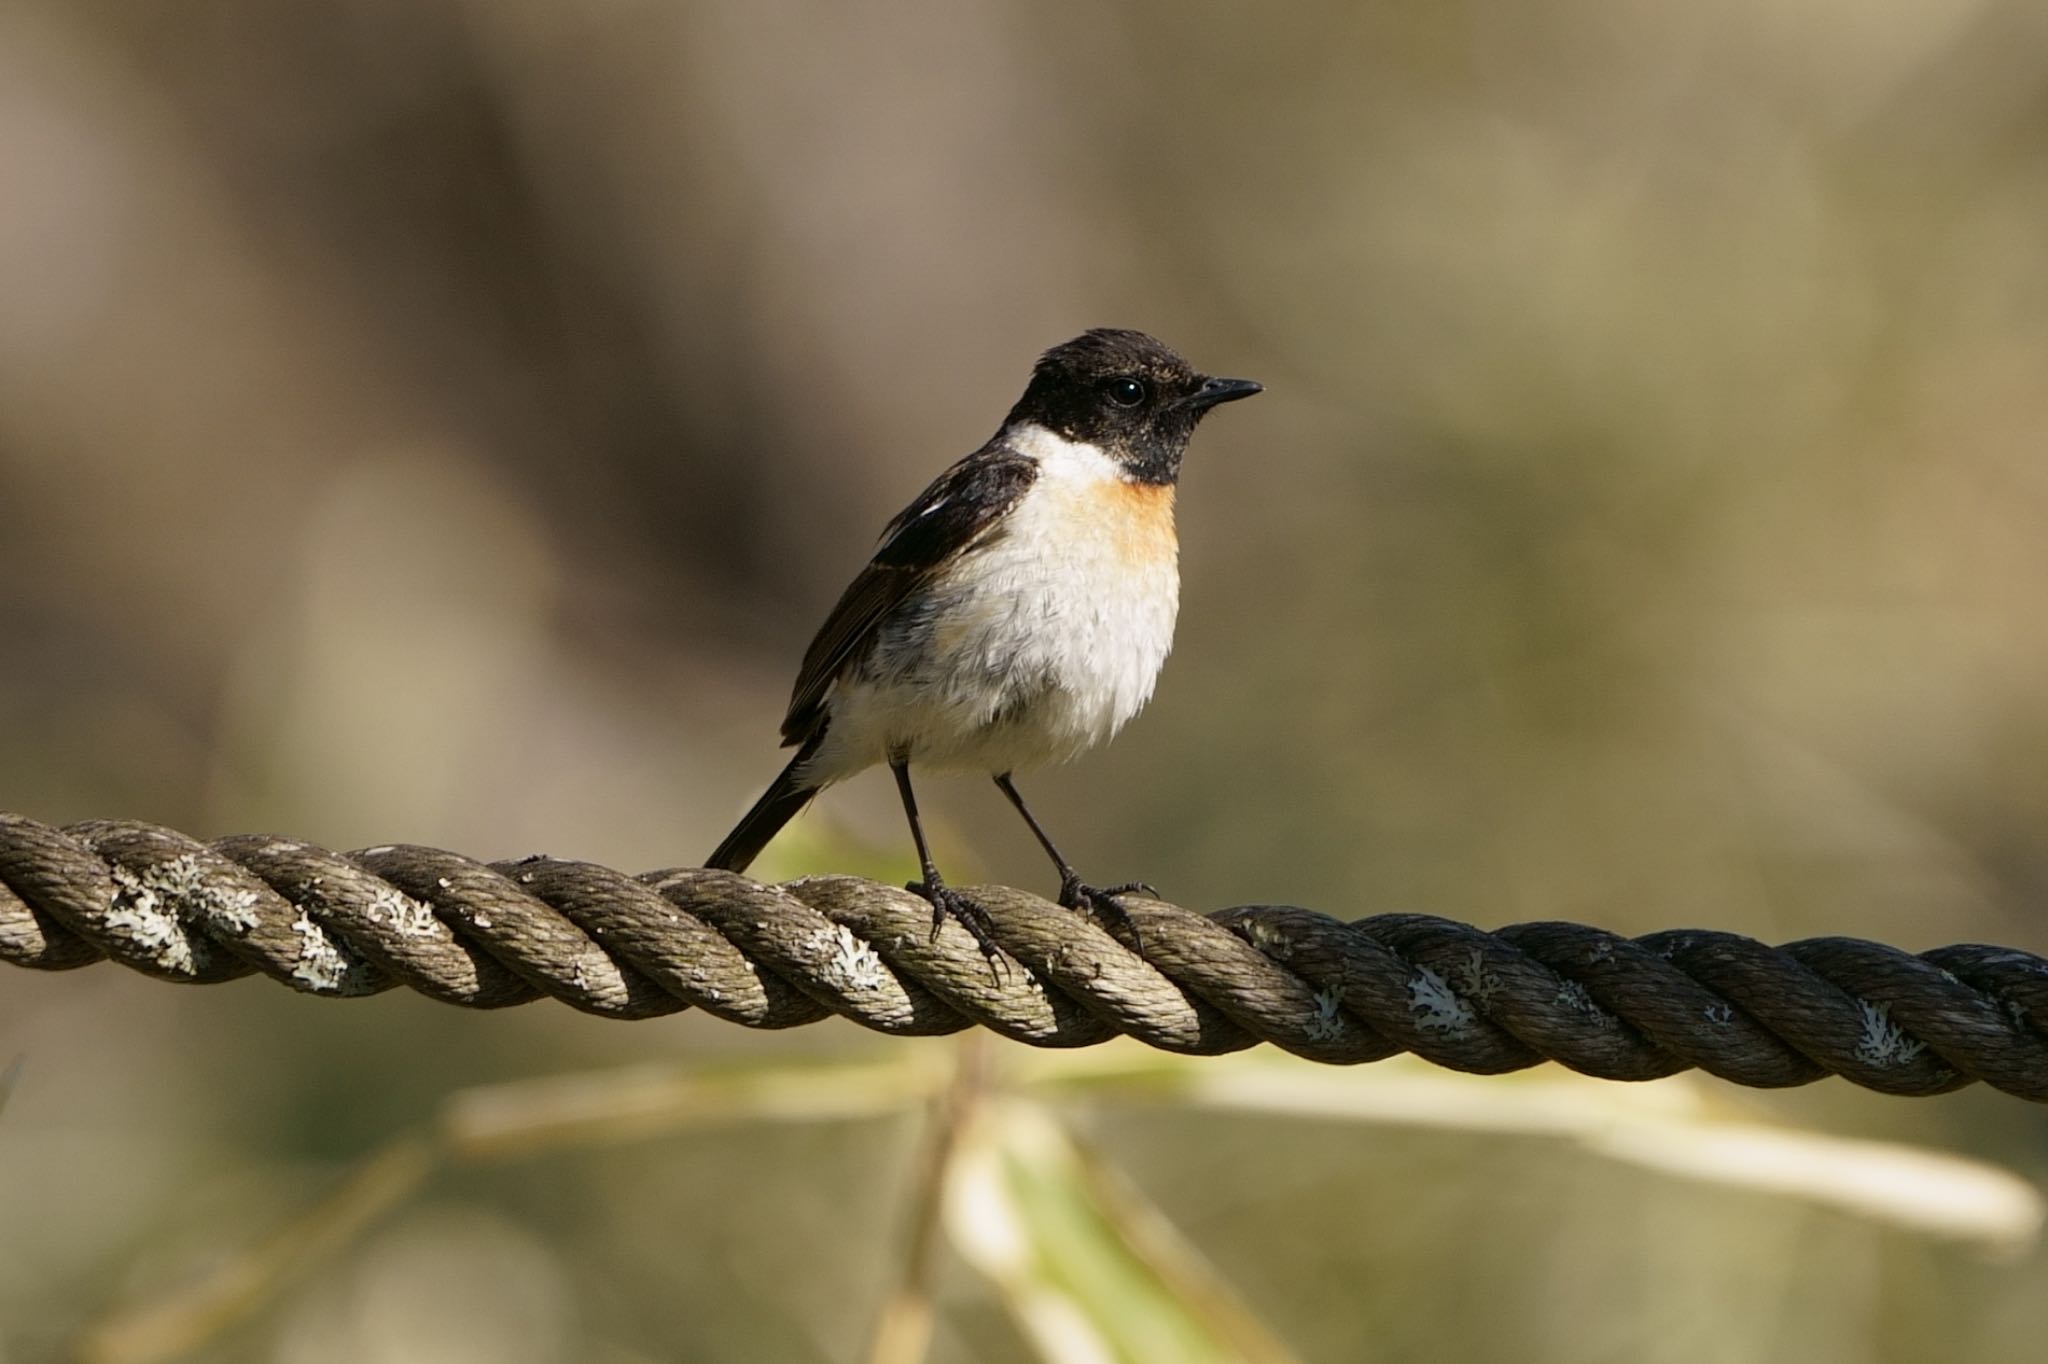
[[797,670],[797,754],[705,866],[743,872],[834,782],[895,774],[922,881],[905,889],[995,963],[989,915],[932,860],[911,768],[985,772],[1059,872],[1059,903],[1126,922],[1047,836],[1014,776],[1106,743],[1151,700],[1180,614],[1174,496],[1196,424],[1264,385],[1196,373],[1145,332],[1053,346],[997,432],[881,535]]

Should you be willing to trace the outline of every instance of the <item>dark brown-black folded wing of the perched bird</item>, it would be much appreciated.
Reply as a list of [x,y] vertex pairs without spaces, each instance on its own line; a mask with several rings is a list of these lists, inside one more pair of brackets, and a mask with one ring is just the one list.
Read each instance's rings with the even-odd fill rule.
[[803,655],[788,715],[782,717],[784,748],[817,733],[825,694],[864,653],[874,627],[946,563],[985,545],[1034,477],[1038,461],[991,442],[940,473],[889,522],[874,557],[840,596]]

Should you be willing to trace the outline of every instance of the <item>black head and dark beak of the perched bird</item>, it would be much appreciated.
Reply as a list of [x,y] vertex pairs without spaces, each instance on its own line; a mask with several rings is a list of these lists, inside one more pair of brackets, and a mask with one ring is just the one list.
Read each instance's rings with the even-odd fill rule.
[[1202,414],[1257,391],[1249,379],[1194,373],[1145,332],[1096,328],[1038,356],[1008,422],[1038,422],[1102,446],[1139,481],[1171,483]]

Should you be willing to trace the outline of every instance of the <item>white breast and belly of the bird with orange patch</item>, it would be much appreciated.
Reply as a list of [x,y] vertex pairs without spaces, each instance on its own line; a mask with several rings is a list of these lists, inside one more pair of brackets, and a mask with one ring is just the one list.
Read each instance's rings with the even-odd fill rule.
[[1038,477],[983,545],[879,627],[807,766],[823,782],[907,758],[1016,772],[1106,741],[1174,647],[1174,489],[1090,444],[1010,432]]

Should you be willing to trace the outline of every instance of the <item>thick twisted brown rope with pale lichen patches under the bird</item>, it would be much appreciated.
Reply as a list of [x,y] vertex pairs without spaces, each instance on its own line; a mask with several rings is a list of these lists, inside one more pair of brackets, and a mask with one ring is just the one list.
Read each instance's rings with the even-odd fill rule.
[[1698,1067],[1765,1088],[1841,1075],[1884,1094],[1982,1079],[2048,1100],[2048,961],[2009,948],[1481,932],[1419,913],[1341,924],[1128,897],[1133,950],[1036,895],[971,893],[1004,948],[995,969],[956,924],[934,934],[924,899],[854,877],[627,877],[0,815],[0,961],[43,971],[111,958],[166,981],[262,973],[313,995],[408,985],[469,1008],[549,995],[608,1018],[700,1008],[788,1028],[838,1014],[899,1034],[981,1024],[1032,1047],[1128,1034],[1196,1055],[1272,1042],[1331,1063],[1411,1051],[1477,1073]]

